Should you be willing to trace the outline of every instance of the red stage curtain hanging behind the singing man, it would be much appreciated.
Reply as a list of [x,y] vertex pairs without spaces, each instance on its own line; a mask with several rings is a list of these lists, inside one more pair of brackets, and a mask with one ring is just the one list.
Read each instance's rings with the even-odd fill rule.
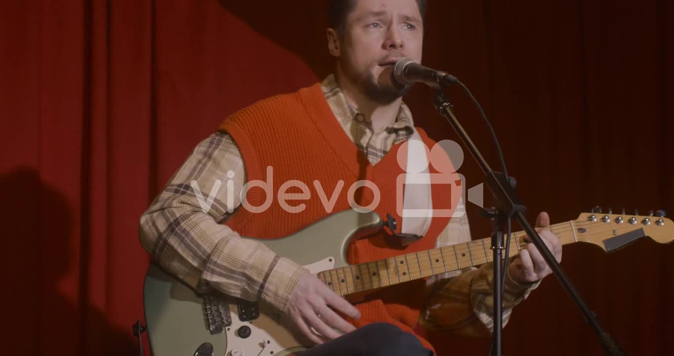
[[[140,214],[228,114],[329,73],[321,1],[3,1],[0,202],[3,348],[134,355],[148,256]],[[528,215],[594,205],[674,209],[674,5],[669,1],[431,1],[427,65],[481,101]],[[493,145],[465,96],[457,115]],[[457,140],[426,88],[406,99]],[[466,157],[470,186],[481,181]],[[474,237],[489,228],[471,207]],[[674,233],[672,234],[674,237]],[[563,267],[630,355],[669,353],[674,245],[565,247]],[[555,278],[518,306],[507,354],[601,355]],[[486,340],[431,335],[440,355]]]

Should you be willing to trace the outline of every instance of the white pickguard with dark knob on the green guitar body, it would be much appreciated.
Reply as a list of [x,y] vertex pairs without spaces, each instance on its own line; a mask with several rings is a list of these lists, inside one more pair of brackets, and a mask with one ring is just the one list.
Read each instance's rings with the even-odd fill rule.
[[[334,258],[328,257],[312,264],[307,264],[304,267],[311,273],[316,274],[324,270],[332,270],[335,264],[334,261]],[[226,356],[278,355],[284,350],[302,346],[295,339],[295,336],[286,330],[285,326],[278,324],[274,317],[260,313],[259,318],[255,320],[241,322],[239,320],[237,305],[230,304],[229,309],[232,313],[232,325],[226,328]],[[245,325],[251,328],[251,335],[247,338],[241,338],[236,332],[241,326]]]

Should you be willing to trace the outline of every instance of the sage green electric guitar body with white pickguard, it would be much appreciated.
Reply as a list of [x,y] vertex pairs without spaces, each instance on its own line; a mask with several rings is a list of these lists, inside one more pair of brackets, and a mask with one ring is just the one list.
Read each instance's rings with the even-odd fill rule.
[[[306,266],[313,273],[348,266],[346,249],[353,239],[381,228],[375,212],[344,210],[280,239],[259,239],[279,256]],[[262,310],[259,318],[239,320],[237,303],[229,303],[232,324],[212,334],[204,310],[204,297],[155,264],[144,285],[145,318],[154,356],[286,356],[304,349],[290,328]],[[250,336],[237,334],[248,326]],[[208,343],[208,344],[206,344]],[[207,350],[197,353],[197,349]]]

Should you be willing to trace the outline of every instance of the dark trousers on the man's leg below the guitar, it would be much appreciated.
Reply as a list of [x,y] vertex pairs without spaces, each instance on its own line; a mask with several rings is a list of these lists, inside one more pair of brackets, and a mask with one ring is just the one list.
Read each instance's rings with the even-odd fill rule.
[[375,323],[358,328],[297,356],[433,356],[419,339],[393,324]]

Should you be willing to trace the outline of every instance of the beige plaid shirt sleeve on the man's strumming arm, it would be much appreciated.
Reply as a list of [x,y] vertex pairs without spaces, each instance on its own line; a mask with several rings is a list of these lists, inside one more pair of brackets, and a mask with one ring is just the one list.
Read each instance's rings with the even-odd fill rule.
[[[229,180],[234,194],[227,194]],[[197,291],[215,288],[233,297],[267,301],[285,312],[307,270],[222,225],[241,205],[244,183],[239,148],[228,134],[212,134],[144,212],[140,241],[162,268]]]

